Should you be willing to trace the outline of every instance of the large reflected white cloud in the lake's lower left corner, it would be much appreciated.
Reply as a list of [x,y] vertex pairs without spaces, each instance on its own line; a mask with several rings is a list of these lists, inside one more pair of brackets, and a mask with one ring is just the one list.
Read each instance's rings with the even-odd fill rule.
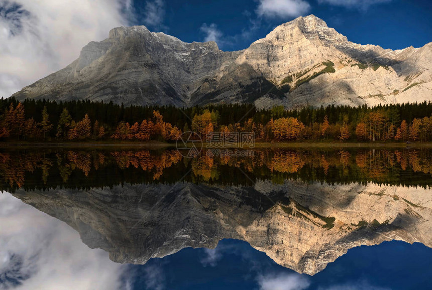
[[122,282],[127,266],[88,248],[68,225],[9,193],[0,193],[0,224],[2,290],[130,288]]

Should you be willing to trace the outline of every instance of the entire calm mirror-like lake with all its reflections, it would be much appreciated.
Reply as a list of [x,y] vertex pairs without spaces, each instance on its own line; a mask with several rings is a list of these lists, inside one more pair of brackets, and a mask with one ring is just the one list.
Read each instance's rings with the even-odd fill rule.
[[430,289],[432,150],[0,150],[0,289]]

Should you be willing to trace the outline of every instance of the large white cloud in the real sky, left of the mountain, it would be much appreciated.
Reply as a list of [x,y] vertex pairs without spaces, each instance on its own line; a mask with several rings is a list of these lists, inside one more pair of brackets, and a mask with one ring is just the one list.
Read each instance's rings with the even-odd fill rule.
[[132,10],[131,0],[0,0],[0,97],[62,69]]

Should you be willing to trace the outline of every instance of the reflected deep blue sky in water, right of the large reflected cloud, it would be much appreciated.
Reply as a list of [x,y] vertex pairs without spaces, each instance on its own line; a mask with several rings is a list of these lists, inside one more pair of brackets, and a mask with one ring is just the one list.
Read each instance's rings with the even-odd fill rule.
[[[133,289],[397,290],[427,289],[432,251],[415,243],[383,242],[348,250],[313,276],[278,265],[238,240],[215,249],[186,248],[145,265],[130,265]],[[402,273],[402,274],[401,274]]]

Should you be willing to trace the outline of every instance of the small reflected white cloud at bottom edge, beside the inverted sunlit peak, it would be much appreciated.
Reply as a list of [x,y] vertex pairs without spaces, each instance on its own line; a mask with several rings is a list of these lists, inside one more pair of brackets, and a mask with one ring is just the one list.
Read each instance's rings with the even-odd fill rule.
[[310,282],[300,274],[279,274],[259,276],[258,284],[261,290],[303,290]]

